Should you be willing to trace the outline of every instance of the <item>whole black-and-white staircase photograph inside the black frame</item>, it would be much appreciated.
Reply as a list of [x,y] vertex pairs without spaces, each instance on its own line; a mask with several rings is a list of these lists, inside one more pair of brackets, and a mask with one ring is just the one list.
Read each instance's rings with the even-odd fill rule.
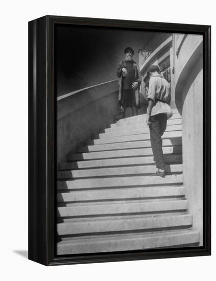
[[203,35],[57,25],[56,253],[203,246]]

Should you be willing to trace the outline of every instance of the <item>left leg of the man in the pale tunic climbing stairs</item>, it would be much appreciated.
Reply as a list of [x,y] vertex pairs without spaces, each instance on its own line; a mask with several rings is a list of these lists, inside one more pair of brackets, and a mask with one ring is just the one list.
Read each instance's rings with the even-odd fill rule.
[[[158,114],[159,115],[159,114]],[[163,149],[162,149],[162,138],[160,134],[160,116],[154,115],[151,116],[151,125],[150,129],[150,140],[151,147],[155,159],[156,168],[161,171],[165,169],[164,157],[163,157]]]

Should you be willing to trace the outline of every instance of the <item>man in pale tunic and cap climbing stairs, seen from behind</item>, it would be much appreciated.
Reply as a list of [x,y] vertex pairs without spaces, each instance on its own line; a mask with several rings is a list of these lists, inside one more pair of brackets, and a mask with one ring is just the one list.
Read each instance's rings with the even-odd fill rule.
[[151,65],[148,69],[148,75],[150,80],[146,123],[150,130],[151,147],[156,164],[156,175],[165,177],[161,136],[167,128],[167,120],[172,116],[172,110],[169,106],[171,88],[164,76],[160,75],[158,65]]

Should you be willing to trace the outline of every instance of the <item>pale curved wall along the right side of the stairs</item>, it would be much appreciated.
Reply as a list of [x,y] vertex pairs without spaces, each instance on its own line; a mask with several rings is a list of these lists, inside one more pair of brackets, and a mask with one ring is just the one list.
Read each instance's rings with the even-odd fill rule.
[[176,40],[175,102],[182,115],[183,181],[193,228],[200,232],[202,246],[203,200],[203,56],[202,36],[187,35]]

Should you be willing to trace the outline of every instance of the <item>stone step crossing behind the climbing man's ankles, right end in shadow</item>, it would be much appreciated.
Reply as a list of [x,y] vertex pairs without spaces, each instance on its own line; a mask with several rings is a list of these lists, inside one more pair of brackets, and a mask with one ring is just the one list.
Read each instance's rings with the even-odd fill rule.
[[[165,163],[181,163],[181,154],[165,154]],[[126,158],[111,158],[111,159],[96,159],[60,163],[60,170],[74,170],[74,169],[88,169],[88,168],[101,168],[113,166],[132,166],[132,165],[146,165],[154,164],[153,156],[141,157],[126,157]]]

